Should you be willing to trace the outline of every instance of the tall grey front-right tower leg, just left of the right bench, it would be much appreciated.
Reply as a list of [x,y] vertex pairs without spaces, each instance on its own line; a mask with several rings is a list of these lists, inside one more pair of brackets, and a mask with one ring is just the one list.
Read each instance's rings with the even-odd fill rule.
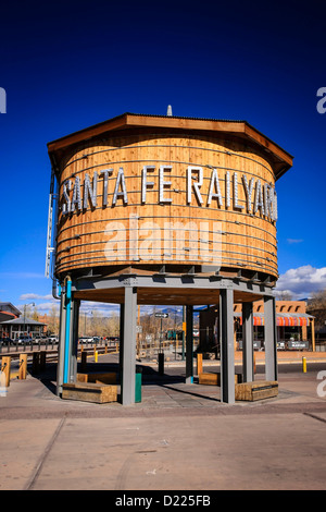
[[234,291],[220,290],[221,401],[235,403]]

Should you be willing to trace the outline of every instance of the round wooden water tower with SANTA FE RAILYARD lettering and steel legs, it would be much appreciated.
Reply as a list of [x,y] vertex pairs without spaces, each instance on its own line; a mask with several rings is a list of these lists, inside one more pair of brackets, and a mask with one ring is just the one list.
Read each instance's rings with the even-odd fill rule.
[[246,121],[171,113],[124,113],[48,144],[58,185],[53,277],[71,305],[62,305],[59,389],[75,378],[83,300],[121,304],[123,403],[134,401],[137,304],[187,306],[187,381],[192,307],[220,304],[222,398],[231,403],[234,303],[244,306],[250,379],[252,303],[264,297],[266,376],[277,377],[275,182],[292,157]]

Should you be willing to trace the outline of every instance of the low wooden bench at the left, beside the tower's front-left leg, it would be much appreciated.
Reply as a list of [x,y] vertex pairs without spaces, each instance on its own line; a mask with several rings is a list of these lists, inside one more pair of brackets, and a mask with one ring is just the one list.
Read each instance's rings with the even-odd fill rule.
[[116,386],[102,382],[75,382],[62,386],[62,398],[82,402],[108,403],[117,401]]

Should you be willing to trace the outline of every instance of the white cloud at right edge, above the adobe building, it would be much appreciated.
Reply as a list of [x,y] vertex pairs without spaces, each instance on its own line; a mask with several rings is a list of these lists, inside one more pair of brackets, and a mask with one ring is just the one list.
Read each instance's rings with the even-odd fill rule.
[[326,289],[326,267],[311,265],[291,268],[277,281],[276,292],[288,292],[293,300],[305,298],[312,293]]

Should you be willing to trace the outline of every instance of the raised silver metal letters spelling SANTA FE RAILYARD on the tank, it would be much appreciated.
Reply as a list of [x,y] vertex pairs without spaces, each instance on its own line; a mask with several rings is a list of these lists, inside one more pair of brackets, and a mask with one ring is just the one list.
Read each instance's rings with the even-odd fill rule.
[[[183,174],[185,179],[185,204],[191,205],[192,193],[200,207],[211,208],[226,208],[235,211],[260,215],[269,219],[271,221],[277,220],[277,197],[275,187],[271,183],[262,182],[261,179],[251,176],[248,179],[246,174],[240,174],[239,171],[230,173],[230,171],[223,171],[220,173],[217,169],[206,166],[211,170],[209,175],[204,175],[204,168],[199,166],[188,166]],[[155,172],[156,171],[156,172]],[[178,193],[180,197],[180,190],[173,188],[173,181],[166,180],[166,174],[172,175],[172,166],[145,166],[140,170],[141,190],[138,192],[140,203],[145,205],[148,200],[153,202],[153,192],[159,191],[159,204],[173,204],[175,194]],[[148,173],[151,173],[151,180],[148,179]],[[127,176],[129,178],[129,176]],[[180,176],[178,176],[180,179]],[[74,180],[74,181],[73,181]],[[114,188],[111,181],[115,181]],[[224,181],[224,188],[222,183]],[[74,214],[75,211],[87,210],[96,208],[105,208],[108,206],[114,207],[122,200],[123,205],[128,205],[128,187],[125,175],[125,170],[120,167],[116,176],[114,176],[114,169],[103,169],[102,171],[95,171],[92,178],[86,173],[84,183],[78,175],[72,175],[65,180],[62,186],[62,214]],[[101,186],[102,204],[98,206],[98,188]],[[225,195],[222,195],[224,190]],[[72,192],[72,194],[71,194]],[[130,195],[135,192],[131,187]],[[109,205],[109,196],[112,196],[112,203]],[[151,198],[148,199],[148,195]],[[131,202],[133,204],[133,202]]]

